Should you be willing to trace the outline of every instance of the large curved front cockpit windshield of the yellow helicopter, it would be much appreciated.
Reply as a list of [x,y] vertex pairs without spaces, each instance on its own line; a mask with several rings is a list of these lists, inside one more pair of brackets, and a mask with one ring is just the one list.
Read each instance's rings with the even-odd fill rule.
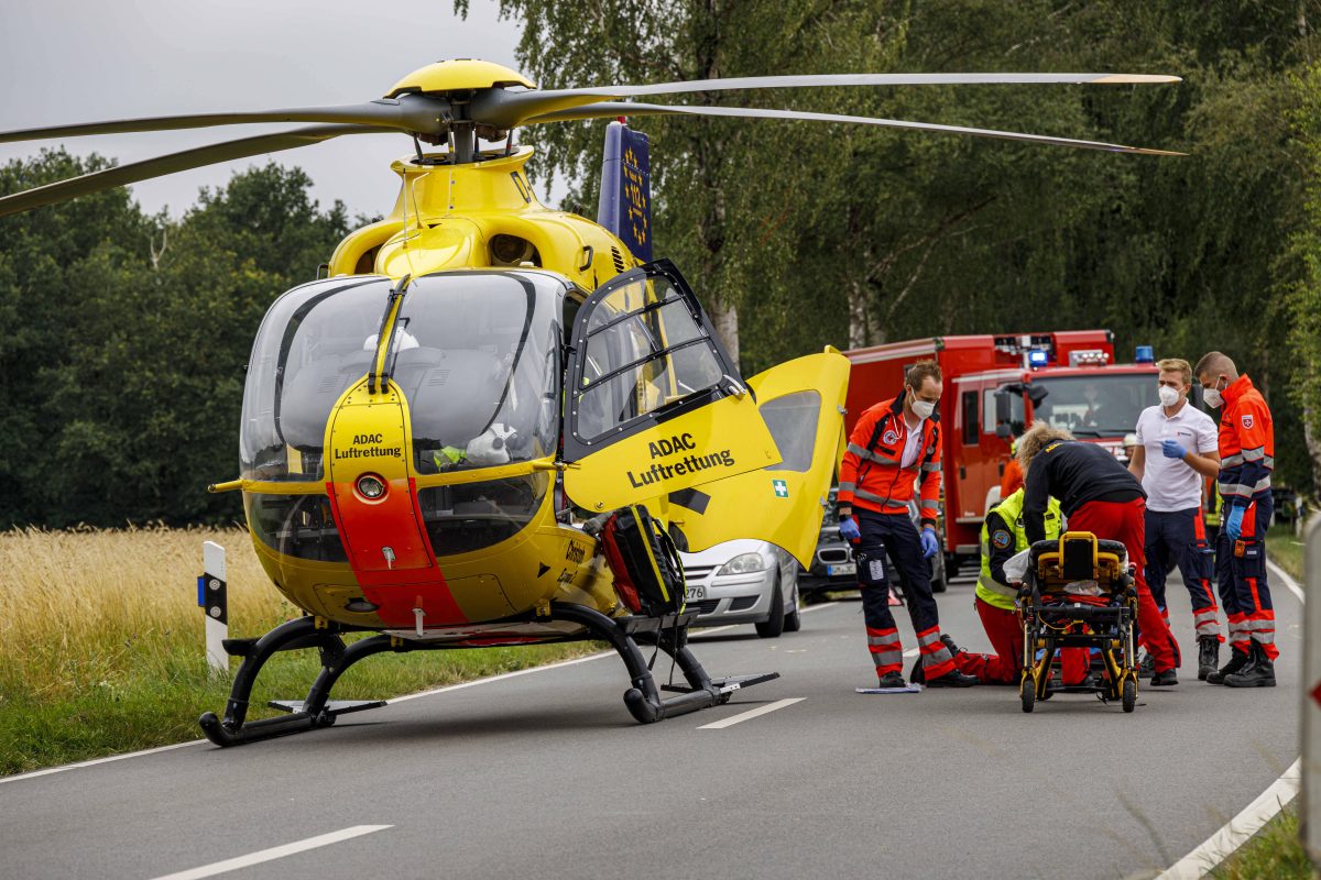
[[[394,286],[388,278],[332,278],[271,307],[243,396],[246,479],[325,478],[326,422],[373,368]],[[415,472],[553,454],[564,289],[531,272],[439,273],[408,285],[386,372],[408,404]]]

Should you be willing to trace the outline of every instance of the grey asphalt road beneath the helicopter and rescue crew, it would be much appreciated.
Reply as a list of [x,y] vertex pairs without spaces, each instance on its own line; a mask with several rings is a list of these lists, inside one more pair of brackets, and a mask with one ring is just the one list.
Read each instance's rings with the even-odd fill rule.
[[[1169,595],[1196,657],[1177,581]],[[1009,687],[855,694],[875,677],[860,604],[841,602],[778,640],[699,635],[712,674],[782,678],[659,724],[631,720],[612,654],[292,738],[13,778],[0,877],[161,877],[357,826],[390,827],[218,876],[1153,873],[1297,756],[1301,610],[1283,584],[1275,596],[1279,687],[1210,686],[1185,666],[1132,715],[1083,695],[1025,715]],[[971,582],[941,611],[960,644],[987,646]]]

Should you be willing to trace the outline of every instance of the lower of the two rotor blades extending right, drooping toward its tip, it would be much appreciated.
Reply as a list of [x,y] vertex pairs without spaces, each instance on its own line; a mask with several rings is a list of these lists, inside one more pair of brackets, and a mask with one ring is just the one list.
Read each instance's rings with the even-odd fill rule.
[[686,107],[682,104],[635,104],[631,102],[602,102],[569,110],[534,116],[523,125],[542,123],[564,123],[584,119],[610,119],[616,116],[725,116],[736,119],[787,119],[818,123],[848,123],[860,125],[882,125],[886,128],[909,128],[946,135],[972,135],[975,137],[997,137],[1029,144],[1054,144],[1081,149],[1107,150],[1111,153],[1136,153],[1141,156],[1186,156],[1174,150],[1151,149],[1147,146],[1125,146],[1103,141],[1085,141],[1073,137],[1052,137],[1049,135],[1025,135],[995,128],[966,128],[963,125],[938,125],[935,123],[910,123],[901,119],[878,119],[875,116],[844,116],[840,113],[812,113],[797,110],[766,110],[758,107]]

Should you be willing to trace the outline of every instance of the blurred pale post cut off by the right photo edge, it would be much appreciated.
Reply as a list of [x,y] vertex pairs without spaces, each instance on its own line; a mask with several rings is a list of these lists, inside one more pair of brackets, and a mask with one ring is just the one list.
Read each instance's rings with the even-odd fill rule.
[[1321,868],[1321,516],[1313,516],[1303,546],[1303,844]]

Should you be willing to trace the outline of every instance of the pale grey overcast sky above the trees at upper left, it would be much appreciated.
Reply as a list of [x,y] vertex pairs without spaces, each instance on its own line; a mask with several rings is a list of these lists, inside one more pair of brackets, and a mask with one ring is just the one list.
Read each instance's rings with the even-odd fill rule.
[[[517,69],[522,25],[472,0],[468,20],[449,0],[4,0],[0,3],[0,131],[106,119],[347,104],[380,98],[406,74],[444,58],[485,58]],[[264,131],[225,127],[65,141],[131,162]],[[57,141],[0,145],[0,162]],[[398,178],[390,162],[412,152],[403,135],[339,137],[273,153],[314,181],[322,207],[384,214]],[[202,186],[223,186],[258,156],[135,183],[148,212],[178,216]],[[544,197],[544,190],[540,190]]]

